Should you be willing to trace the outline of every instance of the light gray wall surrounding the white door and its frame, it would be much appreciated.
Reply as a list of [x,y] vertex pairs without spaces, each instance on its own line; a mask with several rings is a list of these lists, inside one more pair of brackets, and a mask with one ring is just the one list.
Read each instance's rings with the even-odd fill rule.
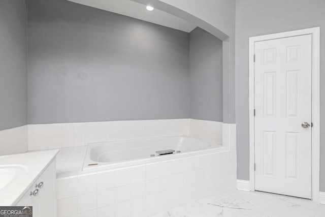
[[236,1],[237,178],[249,179],[248,38],[320,26],[320,190],[325,191],[325,1]]

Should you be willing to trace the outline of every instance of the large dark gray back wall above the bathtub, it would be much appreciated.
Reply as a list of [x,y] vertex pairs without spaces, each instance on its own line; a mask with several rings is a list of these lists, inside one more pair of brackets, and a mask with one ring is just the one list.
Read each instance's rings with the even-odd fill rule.
[[28,0],[28,123],[189,117],[189,34]]

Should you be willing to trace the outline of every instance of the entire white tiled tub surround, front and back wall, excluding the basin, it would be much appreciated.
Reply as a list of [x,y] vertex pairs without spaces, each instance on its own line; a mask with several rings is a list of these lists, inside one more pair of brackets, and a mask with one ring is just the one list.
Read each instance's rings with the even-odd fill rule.
[[[222,145],[82,171],[86,144],[189,135]],[[236,187],[236,125],[194,119],[28,125],[28,149],[60,148],[57,208],[60,216],[151,216]]]

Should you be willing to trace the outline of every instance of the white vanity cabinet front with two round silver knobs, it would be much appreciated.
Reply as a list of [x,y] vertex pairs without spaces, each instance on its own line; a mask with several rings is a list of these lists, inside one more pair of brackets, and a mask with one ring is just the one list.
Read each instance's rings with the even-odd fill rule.
[[16,205],[32,206],[34,217],[56,217],[55,179],[54,159]]

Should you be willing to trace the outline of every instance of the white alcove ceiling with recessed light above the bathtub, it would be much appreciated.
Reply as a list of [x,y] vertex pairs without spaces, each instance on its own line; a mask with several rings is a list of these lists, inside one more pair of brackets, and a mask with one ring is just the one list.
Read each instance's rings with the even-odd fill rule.
[[189,23],[179,17],[154,9],[148,11],[145,5],[136,3],[130,0],[68,0],[70,2],[79,3],[93,8],[110,11],[117,14],[122,14],[128,17],[152,22],[158,25],[167,26],[182,30],[184,32],[191,32],[197,26]]

